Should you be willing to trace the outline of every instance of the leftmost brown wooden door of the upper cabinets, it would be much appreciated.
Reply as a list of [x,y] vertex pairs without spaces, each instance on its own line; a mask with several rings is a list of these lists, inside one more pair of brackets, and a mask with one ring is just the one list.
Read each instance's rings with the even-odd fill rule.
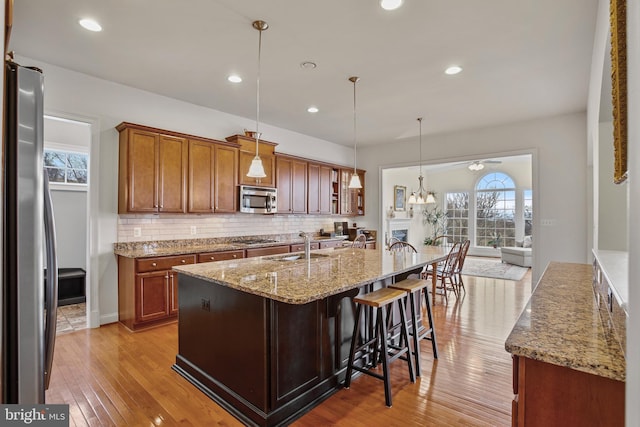
[[125,132],[127,142],[120,148],[126,150],[127,212],[157,212],[158,134],[134,129]]

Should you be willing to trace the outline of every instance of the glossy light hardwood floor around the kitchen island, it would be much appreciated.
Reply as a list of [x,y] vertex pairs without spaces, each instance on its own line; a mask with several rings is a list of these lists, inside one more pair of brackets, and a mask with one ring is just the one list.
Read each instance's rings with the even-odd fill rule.
[[[422,377],[392,364],[393,407],[382,382],[356,378],[294,426],[509,426],[511,357],[504,341],[529,298],[519,282],[465,276],[466,296],[434,306],[439,358],[423,341]],[[58,337],[48,403],[69,404],[72,426],[240,426],[176,374],[177,325],[131,333],[119,324]]]

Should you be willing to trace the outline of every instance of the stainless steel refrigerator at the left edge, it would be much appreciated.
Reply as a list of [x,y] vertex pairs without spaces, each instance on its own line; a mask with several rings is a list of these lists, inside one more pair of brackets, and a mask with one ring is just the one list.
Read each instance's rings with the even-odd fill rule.
[[53,211],[43,169],[44,77],[36,68],[6,61],[4,87],[1,402],[42,404],[58,296]]

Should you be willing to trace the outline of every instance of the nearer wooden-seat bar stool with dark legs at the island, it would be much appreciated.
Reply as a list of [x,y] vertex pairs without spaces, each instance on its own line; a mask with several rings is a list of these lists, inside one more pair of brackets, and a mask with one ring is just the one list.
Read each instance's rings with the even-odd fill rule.
[[[360,371],[364,374],[378,378],[384,381],[384,398],[387,406],[391,406],[391,381],[389,378],[389,363],[402,355],[407,355],[407,365],[409,367],[409,378],[411,382],[415,382],[415,372],[413,367],[413,357],[411,357],[411,349],[409,346],[409,328],[407,325],[407,315],[405,312],[403,297],[405,291],[398,289],[382,288],[370,292],[365,295],[357,296],[353,301],[357,305],[356,322],[353,328],[353,336],[351,337],[351,349],[349,351],[349,363],[347,365],[347,377],[344,381],[345,388],[351,385],[351,374],[353,370]],[[401,320],[401,343],[404,346],[396,346],[387,342],[387,320],[388,310],[393,306],[393,302],[397,301],[398,310],[400,311]],[[376,327],[372,337],[365,337],[362,344],[358,345],[360,336],[360,322],[363,307],[371,307],[377,309]],[[356,357],[356,353],[358,357]],[[378,364],[378,359],[382,361],[382,375],[372,372]],[[357,361],[362,361],[362,366],[356,366]]]

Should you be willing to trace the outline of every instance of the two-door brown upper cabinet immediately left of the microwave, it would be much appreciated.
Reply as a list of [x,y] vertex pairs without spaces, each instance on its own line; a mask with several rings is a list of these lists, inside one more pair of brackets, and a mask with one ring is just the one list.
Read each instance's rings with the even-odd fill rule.
[[189,140],[188,212],[235,213],[237,176],[237,146]]

